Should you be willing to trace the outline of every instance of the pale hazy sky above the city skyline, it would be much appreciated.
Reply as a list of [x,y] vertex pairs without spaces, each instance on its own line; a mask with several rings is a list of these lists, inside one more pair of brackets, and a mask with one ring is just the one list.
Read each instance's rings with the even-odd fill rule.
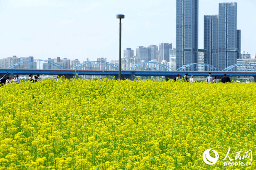
[[[218,14],[220,2],[199,0],[199,48],[204,48],[204,15]],[[256,53],[256,0],[236,0],[241,48]],[[159,43],[176,45],[176,0],[0,0],[0,58],[57,56],[118,59],[119,20],[125,48]]]

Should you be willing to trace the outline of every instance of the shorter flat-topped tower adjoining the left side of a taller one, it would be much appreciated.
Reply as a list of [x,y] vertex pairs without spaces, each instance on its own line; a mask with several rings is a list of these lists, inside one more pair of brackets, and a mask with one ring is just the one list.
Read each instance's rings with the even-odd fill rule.
[[204,15],[204,63],[217,65],[218,58],[218,15]]

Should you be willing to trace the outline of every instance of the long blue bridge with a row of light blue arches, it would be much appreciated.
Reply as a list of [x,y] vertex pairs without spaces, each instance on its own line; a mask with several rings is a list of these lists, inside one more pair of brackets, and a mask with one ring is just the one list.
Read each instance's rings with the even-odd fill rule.
[[[33,69],[29,67],[31,62],[36,62],[37,66]],[[39,64],[38,64],[39,62]],[[43,64],[42,64],[43,63]],[[44,64],[45,63],[45,64]],[[41,64],[41,66],[40,66]],[[39,67],[38,67],[39,65]],[[195,71],[189,71],[191,66]],[[250,71],[244,71],[248,70]],[[202,71],[205,70],[205,71]],[[236,71],[239,70],[239,71]],[[89,61],[84,62],[75,67],[67,70],[63,65],[59,63],[54,63],[48,60],[27,60],[22,61],[7,69],[0,68],[0,75],[4,75],[8,71],[9,74],[45,74],[45,75],[65,75],[68,78],[72,78],[75,74],[77,75],[92,75],[92,76],[115,76],[118,78],[118,66],[113,63],[108,63],[104,61]],[[235,64],[225,68],[224,70],[218,70],[216,67],[204,64],[204,63],[191,63],[180,67],[177,70],[172,70],[172,68],[155,62],[139,63],[129,67],[126,70],[121,71],[122,79],[129,78],[134,79],[135,76],[164,76],[166,80],[170,78],[175,78],[177,74],[194,75],[194,76],[208,76],[208,72],[211,71],[212,76],[217,76],[221,78],[223,74],[227,76],[244,76],[244,77],[254,77],[254,82],[256,82],[256,66],[250,64]]]

